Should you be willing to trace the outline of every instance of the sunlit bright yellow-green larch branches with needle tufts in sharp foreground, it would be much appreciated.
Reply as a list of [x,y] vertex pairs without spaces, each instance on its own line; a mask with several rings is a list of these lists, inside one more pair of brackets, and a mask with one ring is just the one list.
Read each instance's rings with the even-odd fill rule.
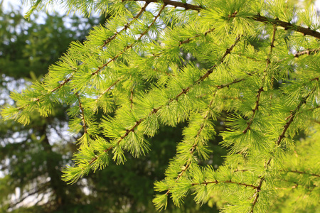
[[[46,3],[36,1],[31,12]],[[157,209],[167,207],[169,195],[180,207],[188,192],[198,204],[215,202],[224,212],[280,211],[278,197],[289,204],[301,195],[308,199],[286,209],[319,208],[319,165],[316,157],[306,158],[310,150],[319,154],[313,147],[319,145],[315,11],[253,0],[65,5],[114,16],[85,43],[72,43],[43,82],[11,94],[16,107],[2,111],[4,119],[28,124],[31,111],[47,116],[53,103],[70,106],[70,131],[83,134],[65,181],[74,183],[111,160],[124,163],[124,151],[145,155],[146,138],[161,124],[188,121],[166,177],[155,183]],[[194,60],[184,60],[181,51]],[[218,168],[203,166],[198,159],[210,159],[213,121],[225,111],[228,129],[220,144],[228,155]],[[300,145],[295,137],[304,134]]]

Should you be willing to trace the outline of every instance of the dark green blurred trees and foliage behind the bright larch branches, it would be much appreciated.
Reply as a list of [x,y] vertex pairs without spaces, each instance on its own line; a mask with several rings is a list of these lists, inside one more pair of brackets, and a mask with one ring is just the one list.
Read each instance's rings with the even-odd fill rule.
[[[314,1],[291,0],[297,6]],[[92,26],[104,24],[108,16],[82,18],[58,13],[36,13],[30,21],[20,9],[2,6],[0,0],[0,105],[14,104],[11,91],[21,91],[31,81],[41,80],[48,66],[58,61],[73,40],[85,40]],[[37,21],[38,20],[38,21]],[[40,21],[39,21],[40,20]],[[187,58],[186,60],[195,60]],[[225,129],[225,116],[215,121],[215,131]],[[169,159],[176,154],[176,143],[186,124],[175,128],[162,126],[149,140],[151,151],[139,159],[126,155],[124,165],[110,164],[107,169],[67,185],[61,168],[71,163],[78,136],[68,135],[65,106],[55,107],[48,117],[33,114],[31,123],[21,126],[0,119],[0,212],[155,212],[152,204],[155,180],[162,180]],[[223,163],[227,151],[213,138],[209,162],[214,168]],[[200,162],[201,163],[201,162]],[[218,212],[223,200],[212,195],[203,206],[186,197],[176,208],[165,212]]]

